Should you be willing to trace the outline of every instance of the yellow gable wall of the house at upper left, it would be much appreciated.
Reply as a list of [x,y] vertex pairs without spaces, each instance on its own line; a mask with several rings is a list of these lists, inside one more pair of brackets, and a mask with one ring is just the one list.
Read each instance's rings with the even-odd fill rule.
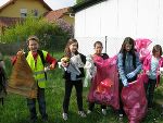
[[15,0],[13,4],[10,4],[0,12],[0,16],[21,17],[21,9],[27,9],[28,13],[36,9],[38,10],[38,15],[48,11],[38,0]]

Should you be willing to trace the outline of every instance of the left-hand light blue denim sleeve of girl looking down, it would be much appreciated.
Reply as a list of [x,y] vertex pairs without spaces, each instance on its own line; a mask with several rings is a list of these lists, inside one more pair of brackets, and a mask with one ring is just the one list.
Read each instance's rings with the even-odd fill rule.
[[127,79],[126,75],[125,75],[124,66],[123,66],[123,54],[122,53],[118,53],[118,56],[117,56],[117,70],[118,70],[118,74],[120,74],[122,82]]

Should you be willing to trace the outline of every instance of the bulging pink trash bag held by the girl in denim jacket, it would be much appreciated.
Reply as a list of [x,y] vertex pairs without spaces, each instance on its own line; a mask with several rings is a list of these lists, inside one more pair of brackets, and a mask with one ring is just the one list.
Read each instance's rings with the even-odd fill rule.
[[121,96],[124,111],[129,123],[140,123],[147,113],[148,103],[142,76],[139,76],[137,81],[129,83],[128,87],[124,87]]

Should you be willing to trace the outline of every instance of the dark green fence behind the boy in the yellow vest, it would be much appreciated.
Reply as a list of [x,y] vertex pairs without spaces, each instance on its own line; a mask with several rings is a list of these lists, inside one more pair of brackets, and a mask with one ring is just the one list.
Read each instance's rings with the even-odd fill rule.
[[[40,39],[39,47],[40,49],[53,53],[54,51],[63,51],[66,41],[67,37],[64,36],[49,36]],[[13,56],[20,49],[24,49],[25,51],[28,50],[27,41],[22,41],[21,39],[18,39],[18,37],[16,42],[0,44],[0,52],[2,52],[2,54]]]

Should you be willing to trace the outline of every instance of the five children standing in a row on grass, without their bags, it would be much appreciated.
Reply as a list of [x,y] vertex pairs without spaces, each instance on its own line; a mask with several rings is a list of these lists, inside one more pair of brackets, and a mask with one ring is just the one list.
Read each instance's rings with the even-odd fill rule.
[[[41,71],[45,67],[38,51],[42,52],[45,61],[50,64],[50,70],[55,69],[58,64],[57,59],[52,58],[47,51],[38,50],[39,39],[36,36],[30,36],[28,38],[28,48],[29,48],[29,52],[27,53],[26,60],[34,73],[37,71]],[[106,53],[102,53],[103,46],[101,41],[96,41],[93,48],[95,48],[95,53],[91,54],[92,60],[97,57],[100,57],[103,60],[109,59],[109,56]],[[22,51],[18,51],[17,54],[18,53],[22,53]],[[124,39],[124,42],[122,45],[120,53],[117,54],[117,60],[116,60],[118,82],[120,82],[118,83],[120,118],[123,118],[125,114],[123,109],[123,101],[121,99],[122,89],[124,87],[129,87],[129,83],[136,81],[140,72],[142,73],[142,70],[143,73],[148,76],[148,82],[145,83],[145,89],[148,99],[148,108],[152,108],[154,88],[155,86],[158,86],[161,76],[160,67],[163,67],[163,58],[161,56],[162,56],[162,48],[160,45],[155,45],[152,49],[152,54],[148,56],[142,63],[139,59],[139,52],[137,52],[137,50],[135,49],[135,40],[130,37],[126,37]],[[76,39],[70,39],[67,41],[63,58],[68,58],[70,61],[68,63],[65,63],[65,61],[61,59],[61,65],[62,67],[64,67],[63,78],[65,79],[65,93],[63,99],[62,118],[65,121],[68,119],[68,106],[70,106],[70,98],[71,98],[73,86],[75,86],[76,89],[78,114],[82,118],[86,118],[87,114],[92,112],[96,102],[91,101],[88,98],[89,104],[86,114],[83,108],[83,78],[85,77],[84,66],[86,63],[86,57],[80,52],[78,52],[78,42]],[[14,62],[15,61],[16,59],[14,60]],[[98,70],[98,65],[97,65],[97,70]],[[97,71],[97,73],[99,71]],[[42,82],[39,82],[40,78],[45,78],[45,79],[43,81],[41,79]],[[38,83],[37,100],[39,103],[39,112],[42,116],[42,120],[48,121],[48,114],[46,112],[46,100],[45,100],[46,76],[42,73],[41,75],[35,74],[35,79]],[[89,93],[91,91],[91,88],[96,87],[95,86],[96,83],[98,84],[98,82],[91,78]],[[27,106],[30,112],[30,122],[36,122],[37,121],[36,99],[27,99]],[[104,115],[106,114],[106,104],[101,103],[101,112]]]

